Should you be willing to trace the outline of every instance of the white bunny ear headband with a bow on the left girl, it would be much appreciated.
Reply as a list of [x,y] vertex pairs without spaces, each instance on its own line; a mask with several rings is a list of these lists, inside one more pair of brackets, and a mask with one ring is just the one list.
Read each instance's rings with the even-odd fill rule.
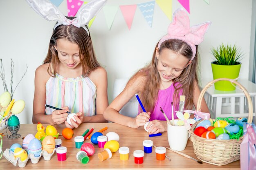
[[[59,25],[74,25],[78,28],[87,25],[90,20],[97,15],[107,0],[92,0],[88,4],[83,4],[77,11],[76,18],[70,20],[65,15],[47,0],[26,0],[29,6],[36,11],[40,16],[48,21],[57,21],[54,29]],[[86,29],[85,29],[86,30]],[[87,30],[86,30],[87,31]],[[89,32],[88,32],[89,34]]]

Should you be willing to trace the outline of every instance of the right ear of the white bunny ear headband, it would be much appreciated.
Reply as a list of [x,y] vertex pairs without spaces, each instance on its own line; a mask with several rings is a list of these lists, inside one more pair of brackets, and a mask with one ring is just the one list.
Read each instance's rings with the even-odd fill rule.
[[84,4],[78,11],[77,11],[77,19],[81,23],[81,26],[87,25],[90,20],[97,15],[97,13],[101,10],[107,0],[93,0],[88,4]]

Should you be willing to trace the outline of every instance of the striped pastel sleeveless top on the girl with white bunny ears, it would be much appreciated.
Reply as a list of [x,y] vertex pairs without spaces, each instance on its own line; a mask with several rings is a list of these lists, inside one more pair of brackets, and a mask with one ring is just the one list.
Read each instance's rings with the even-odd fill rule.
[[[71,113],[96,115],[96,95],[97,87],[89,77],[65,78],[56,73],[46,83],[46,104],[57,108],[68,106]],[[45,108],[46,115],[53,111],[52,108]]]

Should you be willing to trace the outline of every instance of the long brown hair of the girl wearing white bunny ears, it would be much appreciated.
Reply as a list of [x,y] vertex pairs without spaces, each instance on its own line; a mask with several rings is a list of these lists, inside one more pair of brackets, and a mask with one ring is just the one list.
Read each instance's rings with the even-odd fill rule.
[[[74,19],[74,17],[67,18],[70,20]],[[88,27],[86,29],[88,29]],[[83,68],[82,76],[88,76],[90,71],[94,71],[100,66],[92,47],[91,36],[88,35],[87,31],[82,27],[78,28],[74,25],[60,25],[57,26],[52,33],[48,53],[43,61],[43,64],[50,63],[48,67],[49,75],[54,77],[58,71],[58,63],[60,60],[58,59],[58,53],[54,48],[58,39],[65,39],[78,45],[79,59]]]

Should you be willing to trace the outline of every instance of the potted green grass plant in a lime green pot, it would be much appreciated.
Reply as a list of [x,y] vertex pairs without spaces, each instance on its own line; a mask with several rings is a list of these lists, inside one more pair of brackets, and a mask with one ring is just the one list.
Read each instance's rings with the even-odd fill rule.
[[[211,53],[216,59],[211,62],[213,79],[236,79],[239,76],[241,68],[240,60],[243,54],[236,45],[224,45],[222,43],[217,49],[212,48]],[[234,91],[236,89],[235,85],[236,84],[231,84],[229,81],[219,81],[214,84],[214,87],[219,91]]]

